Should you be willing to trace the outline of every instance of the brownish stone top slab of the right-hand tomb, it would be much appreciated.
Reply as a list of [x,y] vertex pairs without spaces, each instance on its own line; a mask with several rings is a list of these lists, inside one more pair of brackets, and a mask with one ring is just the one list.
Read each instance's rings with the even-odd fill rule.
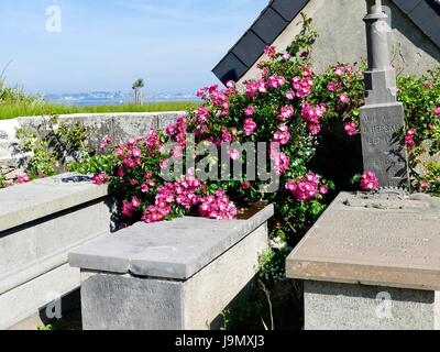
[[287,258],[306,280],[440,289],[440,198],[341,194]]

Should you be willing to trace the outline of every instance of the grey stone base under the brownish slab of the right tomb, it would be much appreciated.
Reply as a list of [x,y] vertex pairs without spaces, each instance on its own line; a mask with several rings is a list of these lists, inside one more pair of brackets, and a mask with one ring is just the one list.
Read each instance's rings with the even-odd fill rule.
[[324,282],[304,289],[305,330],[439,330],[433,290]]

